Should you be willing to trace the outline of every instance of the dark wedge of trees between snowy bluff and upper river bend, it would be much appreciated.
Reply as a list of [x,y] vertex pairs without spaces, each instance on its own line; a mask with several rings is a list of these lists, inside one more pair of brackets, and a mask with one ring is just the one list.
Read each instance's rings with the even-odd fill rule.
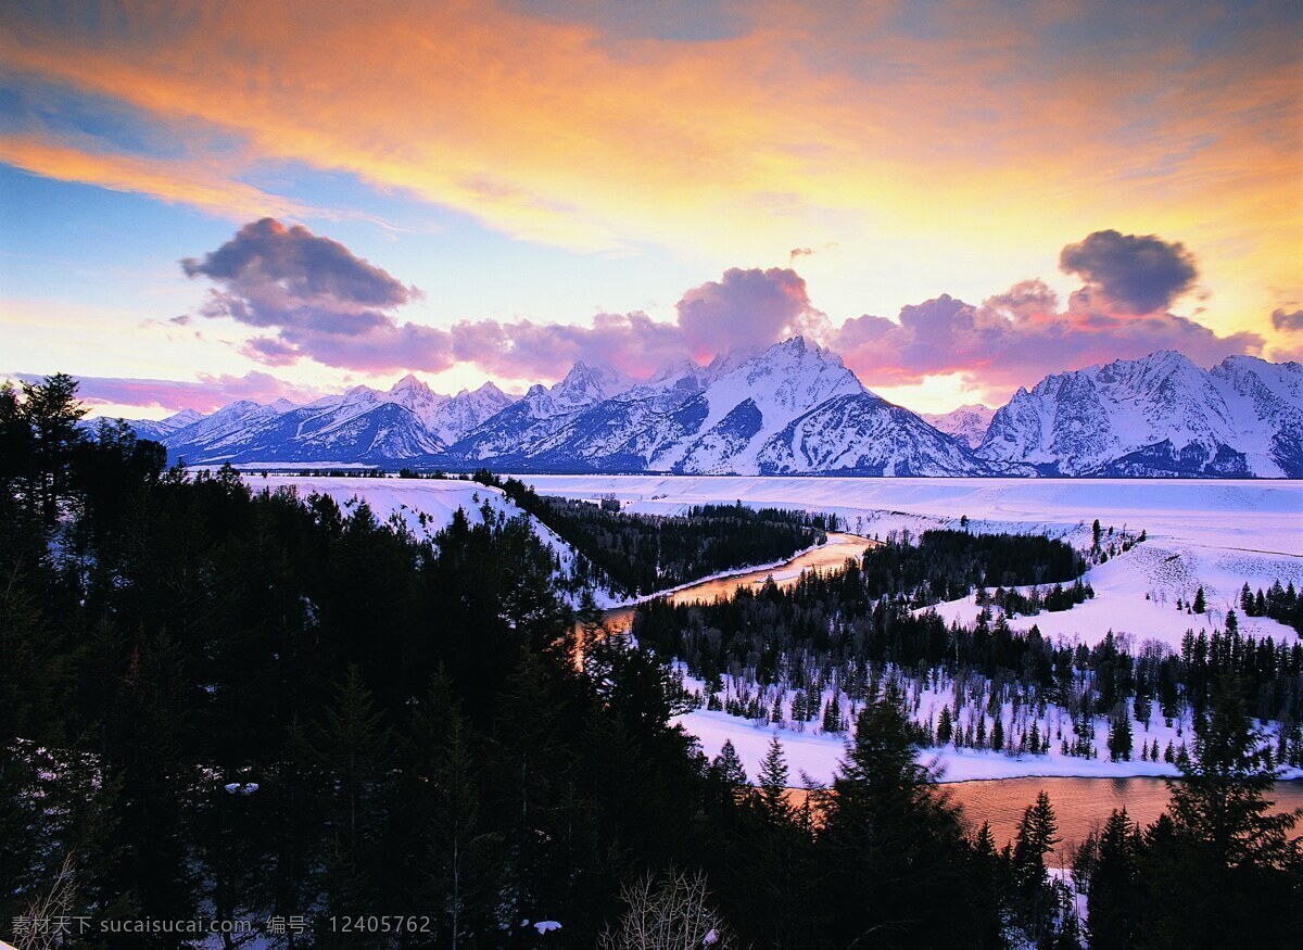
[[767,564],[827,540],[837,516],[702,504],[685,515],[627,515],[618,506],[537,494],[516,478],[481,469],[476,481],[500,487],[556,532],[592,567],[592,580],[631,594],[657,590],[748,564]]

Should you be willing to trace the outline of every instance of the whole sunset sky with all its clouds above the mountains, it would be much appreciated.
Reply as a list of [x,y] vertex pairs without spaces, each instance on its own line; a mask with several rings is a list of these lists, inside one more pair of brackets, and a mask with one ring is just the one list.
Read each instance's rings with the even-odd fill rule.
[[1298,3],[0,3],[0,374],[102,413],[800,332],[921,412],[1303,360]]

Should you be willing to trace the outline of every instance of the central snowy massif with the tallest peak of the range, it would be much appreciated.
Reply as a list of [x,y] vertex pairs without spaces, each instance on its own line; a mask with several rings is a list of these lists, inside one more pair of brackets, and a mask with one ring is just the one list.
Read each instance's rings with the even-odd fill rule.
[[[576,374],[589,373],[580,364],[560,387]],[[769,450],[767,443],[810,410],[853,397],[863,399],[863,404],[847,404],[843,412],[829,416],[829,424],[838,422],[842,427],[818,434],[821,444],[840,443],[839,451],[818,453],[826,464],[840,469],[856,465],[864,470],[881,469],[880,453],[864,443],[866,416],[880,414],[911,429],[903,442],[915,438],[916,429],[930,433],[921,437],[923,442],[946,443],[941,451],[947,456],[945,465],[902,464],[898,467],[902,470],[966,470],[962,452],[946,437],[898,407],[883,414],[880,407],[886,404],[868,394],[839,358],[800,336],[749,358],[735,354],[708,367],[691,364],[671,367],[650,383],[627,387],[601,400],[595,396],[605,387],[588,384],[582,378],[581,382],[586,384],[571,388],[582,397],[568,403],[556,399],[559,387],[534,387],[521,403],[453,446],[452,455],[464,463],[494,460],[536,470],[652,469],[704,474],[753,473],[766,467],[821,470],[816,455],[788,451],[784,456],[780,447]],[[816,425],[817,420],[808,420],[803,430],[812,444],[814,433],[809,430]],[[794,440],[800,440],[795,433],[788,443]],[[767,459],[764,465],[762,451]]]

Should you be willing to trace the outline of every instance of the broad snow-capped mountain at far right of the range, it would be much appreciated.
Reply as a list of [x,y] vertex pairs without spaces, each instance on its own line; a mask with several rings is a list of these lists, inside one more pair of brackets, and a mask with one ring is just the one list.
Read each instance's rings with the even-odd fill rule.
[[977,450],[1070,476],[1303,477],[1303,366],[1164,351],[1046,377],[999,409]]

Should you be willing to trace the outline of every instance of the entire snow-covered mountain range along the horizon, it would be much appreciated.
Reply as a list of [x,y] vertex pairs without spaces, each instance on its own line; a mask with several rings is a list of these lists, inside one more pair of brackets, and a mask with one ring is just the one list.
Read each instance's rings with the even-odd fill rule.
[[1173,352],[1046,377],[998,410],[919,416],[796,336],[649,382],[576,364],[521,397],[414,377],[306,405],[132,424],[188,464],[485,465],[680,474],[1303,477],[1303,366]]

